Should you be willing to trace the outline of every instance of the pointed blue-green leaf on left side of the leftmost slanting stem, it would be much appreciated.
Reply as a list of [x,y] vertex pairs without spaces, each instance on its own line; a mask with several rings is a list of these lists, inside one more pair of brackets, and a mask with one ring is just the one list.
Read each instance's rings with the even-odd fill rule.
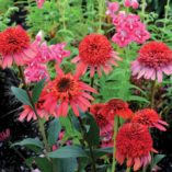
[[27,104],[32,107],[28,95],[25,90],[15,88],[15,87],[11,87],[11,91],[16,96],[16,99],[19,99],[23,104]]

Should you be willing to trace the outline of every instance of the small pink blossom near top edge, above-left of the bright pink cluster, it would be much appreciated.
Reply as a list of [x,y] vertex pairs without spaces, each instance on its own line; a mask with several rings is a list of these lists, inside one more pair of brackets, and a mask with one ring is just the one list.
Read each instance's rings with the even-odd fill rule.
[[119,10],[119,3],[118,2],[108,2],[106,15],[111,15],[112,18],[115,16],[115,12]]

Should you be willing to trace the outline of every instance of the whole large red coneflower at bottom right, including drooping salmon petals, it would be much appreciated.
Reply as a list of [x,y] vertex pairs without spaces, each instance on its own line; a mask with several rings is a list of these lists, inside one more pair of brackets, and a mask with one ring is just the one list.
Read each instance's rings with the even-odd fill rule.
[[134,165],[134,171],[137,171],[150,163],[150,151],[157,152],[147,127],[127,123],[119,128],[116,137],[116,160],[119,164],[127,159],[127,167]]

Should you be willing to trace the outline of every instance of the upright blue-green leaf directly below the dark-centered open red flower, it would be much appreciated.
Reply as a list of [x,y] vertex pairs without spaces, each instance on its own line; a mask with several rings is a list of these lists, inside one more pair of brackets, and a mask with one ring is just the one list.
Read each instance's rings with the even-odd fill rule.
[[60,130],[61,130],[61,124],[59,122],[59,118],[55,118],[49,123],[48,144],[50,146],[53,146],[57,141]]

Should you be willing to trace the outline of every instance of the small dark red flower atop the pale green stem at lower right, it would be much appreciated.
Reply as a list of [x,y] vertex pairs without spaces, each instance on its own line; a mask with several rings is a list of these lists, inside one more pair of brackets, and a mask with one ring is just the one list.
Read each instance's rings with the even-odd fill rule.
[[112,122],[114,121],[115,115],[122,116],[123,118],[133,117],[133,112],[128,107],[128,104],[119,99],[112,99],[107,103],[105,103],[101,113],[104,116],[107,116],[107,118]]

